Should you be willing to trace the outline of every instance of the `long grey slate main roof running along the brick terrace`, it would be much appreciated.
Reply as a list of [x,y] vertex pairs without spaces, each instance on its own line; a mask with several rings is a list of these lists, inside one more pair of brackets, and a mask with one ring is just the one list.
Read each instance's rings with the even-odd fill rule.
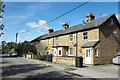
[[93,28],[99,28],[100,25],[102,25],[105,21],[107,21],[110,17],[115,16],[115,14],[112,15],[108,15],[99,19],[95,19],[91,22],[86,22],[86,23],[82,23],[82,24],[78,24],[72,27],[69,27],[65,30],[58,30],[49,34],[45,34],[42,35],[40,37],[37,37],[36,39],[30,41],[30,42],[34,42],[34,41],[39,41],[39,40],[43,40],[43,39],[47,39],[47,38],[51,38],[51,37],[55,37],[55,36],[60,36],[60,35],[65,35],[65,34],[70,34],[70,33],[74,33],[74,32],[78,32],[78,31],[84,31],[84,30],[88,30],[88,29],[93,29]]

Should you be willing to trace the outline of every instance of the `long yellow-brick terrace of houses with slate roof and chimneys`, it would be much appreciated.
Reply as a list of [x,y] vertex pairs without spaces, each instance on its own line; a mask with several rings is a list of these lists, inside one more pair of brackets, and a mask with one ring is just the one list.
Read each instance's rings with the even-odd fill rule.
[[88,14],[87,22],[63,29],[48,30],[48,34],[32,40],[32,44],[42,42],[53,62],[76,65],[75,57],[83,57],[84,64],[107,64],[120,51],[120,26],[115,14],[95,19]]

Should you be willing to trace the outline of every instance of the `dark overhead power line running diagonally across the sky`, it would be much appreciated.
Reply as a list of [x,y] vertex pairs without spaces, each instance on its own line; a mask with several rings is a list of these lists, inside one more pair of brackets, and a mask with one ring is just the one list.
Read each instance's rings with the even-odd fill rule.
[[[28,30],[28,31],[25,31],[25,32],[30,32],[30,31],[32,31],[32,30],[34,30],[34,29],[36,29],[36,28],[39,28],[39,27],[41,27],[41,26],[44,26],[44,25],[46,25],[46,24],[48,24],[48,23],[50,23],[50,22],[53,22],[53,21],[59,19],[60,17],[62,17],[62,16],[64,16],[64,15],[66,15],[66,14],[68,14],[68,13],[70,13],[70,12],[72,12],[72,11],[78,9],[78,8],[80,8],[81,6],[89,3],[90,1],[92,1],[92,0],[88,0],[87,2],[85,2],[85,3],[83,3],[83,4],[79,5],[79,6],[77,6],[77,7],[75,7],[75,8],[73,8],[73,9],[71,9],[71,10],[69,10],[68,12],[66,12],[66,13],[64,13],[64,14],[62,14],[62,15],[54,18],[54,19],[51,19],[50,21],[48,21],[48,22],[46,22],[46,23],[44,23],[44,24],[42,24],[42,25],[40,25],[40,26],[38,26],[38,27],[32,28],[31,30]],[[21,33],[25,33],[25,32],[21,32]]]

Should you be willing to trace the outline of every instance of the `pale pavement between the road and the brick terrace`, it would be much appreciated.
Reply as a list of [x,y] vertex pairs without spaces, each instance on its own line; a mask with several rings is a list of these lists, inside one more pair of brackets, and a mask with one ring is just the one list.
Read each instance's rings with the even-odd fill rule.
[[[66,73],[71,73],[77,76],[84,76],[84,78],[114,78],[118,79],[118,69],[120,66],[117,65],[99,65],[99,66],[86,66],[82,68],[78,67],[70,67],[68,65],[56,64],[47,61],[28,59],[24,57],[20,57],[21,59],[34,62],[37,64],[42,64],[46,66],[52,66],[58,68],[60,70],[64,70]],[[118,68],[119,67],[119,68]]]

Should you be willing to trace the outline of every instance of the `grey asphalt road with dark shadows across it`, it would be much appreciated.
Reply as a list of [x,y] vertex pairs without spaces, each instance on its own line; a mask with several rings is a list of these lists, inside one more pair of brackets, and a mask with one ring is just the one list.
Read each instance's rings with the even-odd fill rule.
[[[0,55],[0,65],[2,64],[3,78],[81,78],[73,74],[65,73],[55,67],[36,64],[19,57],[9,57],[7,55]],[[1,68],[0,68],[1,70]]]

